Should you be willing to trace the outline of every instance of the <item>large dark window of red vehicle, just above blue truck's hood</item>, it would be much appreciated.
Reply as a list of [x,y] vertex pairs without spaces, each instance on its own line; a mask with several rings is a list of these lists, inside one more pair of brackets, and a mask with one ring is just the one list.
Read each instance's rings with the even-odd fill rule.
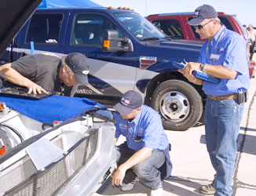
[[181,24],[178,20],[153,20],[152,24],[155,25],[160,31],[173,38],[183,39]]

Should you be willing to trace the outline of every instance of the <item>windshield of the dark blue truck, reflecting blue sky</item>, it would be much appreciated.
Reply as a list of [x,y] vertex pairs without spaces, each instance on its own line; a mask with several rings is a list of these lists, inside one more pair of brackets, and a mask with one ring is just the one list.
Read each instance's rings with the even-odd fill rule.
[[115,16],[140,41],[165,37],[161,31],[138,13],[115,13]]

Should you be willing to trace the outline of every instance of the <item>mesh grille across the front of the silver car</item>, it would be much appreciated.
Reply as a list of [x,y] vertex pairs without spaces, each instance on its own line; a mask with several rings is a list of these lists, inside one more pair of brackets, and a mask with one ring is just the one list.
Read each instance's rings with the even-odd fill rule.
[[[15,162],[0,176],[1,195],[56,195],[93,157],[97,149],[98,132],[90,132],[82,138],[58,162],[48,165],[43,171],[37,171],[29,156]],[[62,146],[58,140],[57,146]]]

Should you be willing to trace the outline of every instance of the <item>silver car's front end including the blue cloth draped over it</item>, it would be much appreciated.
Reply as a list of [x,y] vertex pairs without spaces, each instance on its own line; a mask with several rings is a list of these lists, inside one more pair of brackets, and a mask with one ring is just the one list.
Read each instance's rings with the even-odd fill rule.
[[101,104],[55,95],[0,100],[1,195],[90,195],[113,171],[114,116]]

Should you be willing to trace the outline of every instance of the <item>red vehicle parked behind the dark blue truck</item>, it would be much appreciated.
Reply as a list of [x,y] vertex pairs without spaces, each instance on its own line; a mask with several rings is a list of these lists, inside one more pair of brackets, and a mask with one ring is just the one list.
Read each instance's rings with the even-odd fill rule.
[[[199,38],[199,34],[196,33],[195,27],[187,25],[188,20],[192,18],[194,13],[160,13],[152,14],[146,18],[158,27],[163,33],[170,36],[171,38],[177,39],[189,39],[196,40],[200,42],[205,42],[205,40]],[[225,25],[228,29],[236,31],[243,38],[248,40],[247,32],[245,31],[239,20],[236,19],[236,15],[228,15],[225,13],[218,13],[218,18],[221,23]],[[255,72],[255,62],[249,61],[249,44],[248,44],[248,67],[250,72],[250,77],[254,77]]]

